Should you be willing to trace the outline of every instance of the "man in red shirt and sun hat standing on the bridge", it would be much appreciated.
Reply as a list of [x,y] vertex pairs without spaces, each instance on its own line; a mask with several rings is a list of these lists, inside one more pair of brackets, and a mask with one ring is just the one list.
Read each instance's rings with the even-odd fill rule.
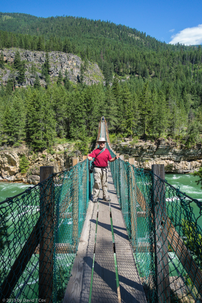
[[118,156],[112,158],[107,148],[105,148],[104,151],[99,154],[99,152],[105,147],[105,142],[107,141],[104,138],[99,138],[97,142],[99,143],[99,148],[95,149],[91,154],[87,155],[89,161],[92,161],[93,158],[95,158],[94,160],[95,166],[93,168],[93,178],[94,178],[93,202],[94,203],[98,201],[100,181],[102,183],[102,189],[103,189],[103,200],[110,201],[107,191],[108,161],[113,162],[116,159],[120,158]]

